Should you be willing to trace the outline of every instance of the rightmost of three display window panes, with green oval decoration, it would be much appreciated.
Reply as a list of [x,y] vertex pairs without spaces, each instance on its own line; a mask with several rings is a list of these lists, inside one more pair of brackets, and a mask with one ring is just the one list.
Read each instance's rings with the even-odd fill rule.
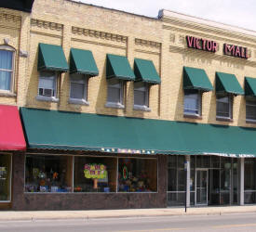
[[156,159],[118,159],[119,192],[156,192]]

